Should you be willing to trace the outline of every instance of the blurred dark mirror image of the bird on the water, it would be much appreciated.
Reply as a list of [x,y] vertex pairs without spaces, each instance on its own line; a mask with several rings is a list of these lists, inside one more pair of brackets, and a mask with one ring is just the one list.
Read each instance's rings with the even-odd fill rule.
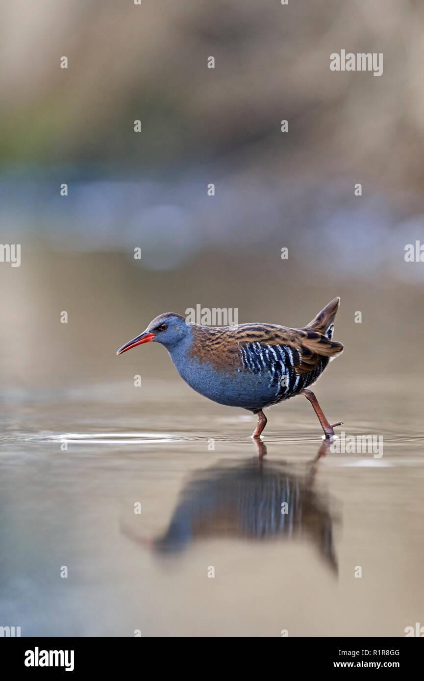
[[267,449],[258,441],[259,457],[247,462],[225,460],[202,470],[190,479],[166,531],[153,540],[123,530],[154,552],[181,552],[199,539],[244,538],[307,539],[322,559],[337,573],[333,546],[333,522],[329,499],[314,491],[318,460],[329,442],[324,442],[306,471],[299,466],[265,458]]

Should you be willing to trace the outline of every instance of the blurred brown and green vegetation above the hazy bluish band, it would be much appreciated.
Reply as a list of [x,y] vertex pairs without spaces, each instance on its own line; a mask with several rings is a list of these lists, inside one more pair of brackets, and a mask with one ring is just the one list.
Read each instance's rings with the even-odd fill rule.
[[[145,174],[248,149],[276,171],[421,188],[423,29],[409,0],[18,0],[3,13],[3,164]],[[341,48],[383,52],[382,77],[330,72]]]

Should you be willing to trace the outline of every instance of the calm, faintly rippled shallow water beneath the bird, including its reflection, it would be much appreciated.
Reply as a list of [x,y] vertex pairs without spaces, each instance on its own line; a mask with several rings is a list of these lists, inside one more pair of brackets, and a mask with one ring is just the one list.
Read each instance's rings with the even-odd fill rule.
[[382,436],[381,457],[323,448],[300,397],[267,412],[258,456],[254,417],[178,379],[9,394],[0,624],[22,636],[403,636],[424,617],[424,438],[419,385],[396,385],[364,394],[329,375],[316,387],[339,434]]

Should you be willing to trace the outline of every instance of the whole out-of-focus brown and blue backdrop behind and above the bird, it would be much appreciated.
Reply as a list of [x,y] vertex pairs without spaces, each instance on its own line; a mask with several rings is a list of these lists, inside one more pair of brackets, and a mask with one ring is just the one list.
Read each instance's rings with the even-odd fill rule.
[[[118,378],[161,312],[302,326],[336,295],[345,366],[422,368],[393,362],[423,332],[421,3],[18,0],[1,23],[3,387]],[[383,75],[331,72],[342,48]],[[168,375],[148,354],[124,361]]]

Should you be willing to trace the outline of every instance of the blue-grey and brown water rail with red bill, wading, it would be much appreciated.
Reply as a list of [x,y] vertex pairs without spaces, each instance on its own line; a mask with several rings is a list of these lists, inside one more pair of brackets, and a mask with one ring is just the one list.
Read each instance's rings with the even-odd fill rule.
[[342,421],[327,421],[309,386],[344,349],[333,340],[339,303],[340,298],[334,298],[299,329],[269,323],[203,326],[166,312],[119,348],[117,355],[143,343],[164,345],[183,381],[196,392],[258,416],[252,434],[256,440],[267,425],[263,409],[303,395],[314,408],[324,437],[330,439]]

